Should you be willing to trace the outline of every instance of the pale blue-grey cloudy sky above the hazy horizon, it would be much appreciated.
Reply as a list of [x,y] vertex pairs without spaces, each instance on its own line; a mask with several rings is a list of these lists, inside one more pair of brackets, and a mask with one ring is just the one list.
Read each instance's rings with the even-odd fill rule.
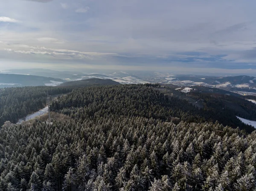
[[256,75],[253,0],[6,0],[0,70]]

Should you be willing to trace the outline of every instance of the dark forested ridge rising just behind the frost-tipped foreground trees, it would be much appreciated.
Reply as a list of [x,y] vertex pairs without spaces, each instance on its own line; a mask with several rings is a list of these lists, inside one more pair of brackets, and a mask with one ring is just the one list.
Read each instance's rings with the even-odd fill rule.
[[[213,122],[239,127],[247,132],[255,130],[245,125],[230,108],[223,109],[218,98],[208,97],[204,108],[197,108],[187,100],[165,96],[157,87],[146,85],[121,85],[81,88],[52,103],[52,110],[70,115],[76,114],[81,120],[96,115],[143,116],[164,121],[178,117],[189,123]],[[246,101],[246,100],[243,100]],[[248,101],[246,101],[248,102]],[[249,103],[249,102],[248,102]],[[252,103],[249,103],[252,104]],[[250,108],[249,108],[250,110]],[[255,109],[256,111],[256,109]],[[251,113],[255,111],[250,111]],[[247,114],[242,112],[241,114]],[[248,114],[247,114],[248,115]]]

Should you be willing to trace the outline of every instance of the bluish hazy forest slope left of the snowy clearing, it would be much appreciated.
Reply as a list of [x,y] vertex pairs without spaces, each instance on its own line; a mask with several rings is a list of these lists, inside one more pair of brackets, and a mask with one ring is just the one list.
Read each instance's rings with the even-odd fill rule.
[[50,95],[66,94],[72,91],[66,87],[23,87],[0,88],[0,126],[5,121],[17,123],[28,114],[46,106],[47,91]]

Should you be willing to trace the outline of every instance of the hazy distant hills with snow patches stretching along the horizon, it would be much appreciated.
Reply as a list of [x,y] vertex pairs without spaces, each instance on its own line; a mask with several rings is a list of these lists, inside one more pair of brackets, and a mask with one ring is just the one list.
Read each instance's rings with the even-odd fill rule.
[[[256,93],[256,77],[250,76],[203,76],[203,75],[183,75],[171,74],[167,72],[152,71],[113,71],[102,70],[99,72],[77,72],[77,71],[54,71],[47,69],[15,69],[2,71],[4,74],[26,74],[38,75],[43,77],[58,78],[52,81],[78,81],[91,78],[99,78],[102,80],[113,80],[121,84],[140,84],[140,83],[160,83],[174,84],[181,87],[206,86],[211,88],[219,88],[233,92],[254,92]],[[62,81],[61,81],[61,80]],[[0,81],[0,83],[3,83]],[[42,83],[41,83],[42,85]]]

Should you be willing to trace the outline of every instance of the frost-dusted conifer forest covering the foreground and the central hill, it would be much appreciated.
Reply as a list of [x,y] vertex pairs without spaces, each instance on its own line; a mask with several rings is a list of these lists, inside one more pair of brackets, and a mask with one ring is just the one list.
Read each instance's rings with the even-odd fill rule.
[[51,110],[67,117],[2,126],[1,191],[256,190],[256,131],[154,86],[75,88]]

